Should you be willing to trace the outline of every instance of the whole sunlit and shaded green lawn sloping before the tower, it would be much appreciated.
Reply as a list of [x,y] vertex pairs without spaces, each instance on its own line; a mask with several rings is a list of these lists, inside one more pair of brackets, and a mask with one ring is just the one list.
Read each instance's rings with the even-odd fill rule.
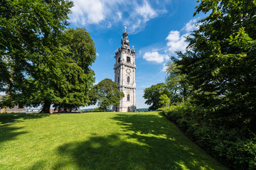
[[225,169],[157,112],[0,114],[0,169]]

